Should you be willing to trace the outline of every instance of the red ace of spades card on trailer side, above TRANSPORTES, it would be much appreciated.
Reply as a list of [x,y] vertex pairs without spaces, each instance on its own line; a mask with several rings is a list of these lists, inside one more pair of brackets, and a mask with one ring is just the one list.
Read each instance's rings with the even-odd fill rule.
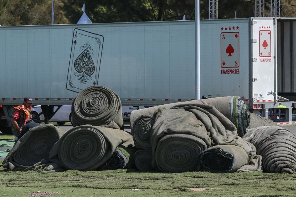
[[240,66],[240,34],[239,32],[221,33],[221,67]]

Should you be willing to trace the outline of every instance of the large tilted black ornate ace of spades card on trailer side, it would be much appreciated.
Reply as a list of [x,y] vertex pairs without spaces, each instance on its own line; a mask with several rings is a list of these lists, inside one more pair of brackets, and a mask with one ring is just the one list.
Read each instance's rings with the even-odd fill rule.
[[97,85],[104,37],[74,29],[66,88],[80,92]]

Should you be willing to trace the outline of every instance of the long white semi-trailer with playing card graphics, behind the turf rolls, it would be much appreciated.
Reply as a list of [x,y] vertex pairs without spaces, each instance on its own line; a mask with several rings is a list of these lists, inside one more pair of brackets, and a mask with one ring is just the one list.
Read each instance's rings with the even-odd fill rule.
[[[239,95],[251,110],[284,113],[291,123],[295,102],[280,101],[278,93],[296,92],[295,22],[200,21],[201,95]],[[194,21],[1,26],[0,46],[6,125],[26,96],[48,122],[53,106],[71,105],[92,85],[114,90],[126,106],[195,99]]]

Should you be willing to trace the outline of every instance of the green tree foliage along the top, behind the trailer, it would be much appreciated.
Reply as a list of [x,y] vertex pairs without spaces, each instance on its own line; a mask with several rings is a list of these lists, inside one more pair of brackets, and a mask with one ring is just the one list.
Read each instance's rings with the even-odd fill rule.
[[[170,21],[195,19],[195,0],[55,0],[55,24],[76,24],[82,5],[93,23]],[[208,0],[199,1],[200,19],[208,19]],[[255,0],[219,0],[218,16],[248,18],[254,16]],[[265,1],[265,16],[270,15],[270,1]],[[281,1],[281,16],[296,17],[296,0]],[[0,24],[51,24],[51,0],[0,0]]]

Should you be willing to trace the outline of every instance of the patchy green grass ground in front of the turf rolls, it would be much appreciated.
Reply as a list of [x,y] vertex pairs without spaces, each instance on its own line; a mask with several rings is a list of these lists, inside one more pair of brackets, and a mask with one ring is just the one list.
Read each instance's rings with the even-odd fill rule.
[[129,169],[44,173],[9,172],[0,167],[1,196],[18,197],[32,195],[288,197],[296,195],[295,182],[296,174],[262,172],[170,174]]

